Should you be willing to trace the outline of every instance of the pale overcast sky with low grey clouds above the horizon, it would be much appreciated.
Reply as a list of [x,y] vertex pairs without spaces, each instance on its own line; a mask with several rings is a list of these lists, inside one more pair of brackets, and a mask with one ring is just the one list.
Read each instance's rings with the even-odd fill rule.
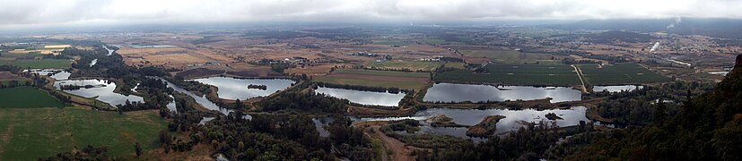
[[742,0],[0,0],[0,28],[249,21],[742,18]]

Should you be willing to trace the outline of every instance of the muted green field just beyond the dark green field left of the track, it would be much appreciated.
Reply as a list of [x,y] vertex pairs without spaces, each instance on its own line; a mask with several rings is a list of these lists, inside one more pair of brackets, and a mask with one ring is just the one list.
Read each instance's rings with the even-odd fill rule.
[[465,57],[487,58],[500,64],[559,64],[561,62],[551,60],[553,55],[540,53],[520,53],[515,50],[461,50]]

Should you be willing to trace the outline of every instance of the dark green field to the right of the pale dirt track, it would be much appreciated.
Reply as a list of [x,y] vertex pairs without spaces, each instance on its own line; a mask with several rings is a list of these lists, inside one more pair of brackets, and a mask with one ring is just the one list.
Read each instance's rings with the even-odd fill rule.
[[668,77],[651,72],[639,64],[580,64],[582,76],[590,85],[623,85],[669,81]]

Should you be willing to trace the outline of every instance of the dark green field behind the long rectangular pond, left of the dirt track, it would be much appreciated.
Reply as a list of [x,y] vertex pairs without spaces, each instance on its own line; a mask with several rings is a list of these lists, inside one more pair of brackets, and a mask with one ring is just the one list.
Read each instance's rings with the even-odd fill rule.
[[524,86],[580,85],[580,78],[566,64],[486,64],[488,72],[475,73],[467,69],[440,72],[433,80],[462,83],[490,83]]

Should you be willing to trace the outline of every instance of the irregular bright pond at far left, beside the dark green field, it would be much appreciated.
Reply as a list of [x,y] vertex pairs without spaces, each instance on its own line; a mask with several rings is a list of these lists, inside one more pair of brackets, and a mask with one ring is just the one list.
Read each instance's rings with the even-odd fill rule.
[[96,97],[96,99],[108,103],[111,106],[124,105],[127,100],[129,102],[144,102],[143,97],[134,95],[125,96],[113,92],[116,89],[116,83],[109,80],[59,80],[54,82],[54,87],[57,89],[60,89],[62,85],[92,85],[93,88],[89,89],[81,88],[63,91],[81,97]]

